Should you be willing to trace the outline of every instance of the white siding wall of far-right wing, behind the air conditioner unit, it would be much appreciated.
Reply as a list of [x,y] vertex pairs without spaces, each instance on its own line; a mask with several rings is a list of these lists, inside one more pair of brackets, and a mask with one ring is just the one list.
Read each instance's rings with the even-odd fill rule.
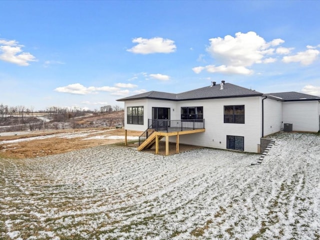
[[319,130],[317,101],[290,101],[282,103],[283,123],[292,123],[293,131]]

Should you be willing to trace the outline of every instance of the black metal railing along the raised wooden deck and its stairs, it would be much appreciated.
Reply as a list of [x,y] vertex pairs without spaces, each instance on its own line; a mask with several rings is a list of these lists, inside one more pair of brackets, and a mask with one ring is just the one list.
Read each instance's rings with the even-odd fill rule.
[[166,120],[148,119],[148,128],[139,136],[139,145],[154,131],[172,132],[203,129],[204,119]]

